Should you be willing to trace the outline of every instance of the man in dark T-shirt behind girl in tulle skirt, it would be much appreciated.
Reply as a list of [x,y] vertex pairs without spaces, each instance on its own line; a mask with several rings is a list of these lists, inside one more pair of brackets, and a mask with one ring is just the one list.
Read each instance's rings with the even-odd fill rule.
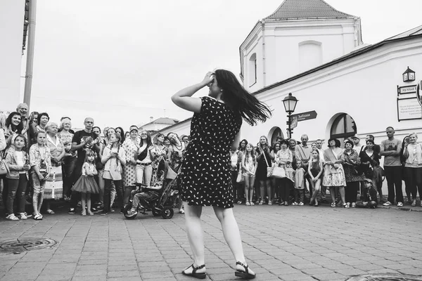
[[[75,170],[73,171],[74,183],[82,174],[82,165],[84,164],[87,150],[90,149],[99,152],[98,139],[96,135],[92,132],[92,127],[94,126],[94,119],[92,119],[91,117],[85,118],[84,126],[85,129],[82,131],[77,131],[72,138],[72,151],[77,152]],[[79,192],[72,191],[72,195],[70,197],[70,209],[68,212],[69,214],[75,214],[75,209],[77,207],[79,197]],[[84,207],[85,206],[82,206],[82,208]]]

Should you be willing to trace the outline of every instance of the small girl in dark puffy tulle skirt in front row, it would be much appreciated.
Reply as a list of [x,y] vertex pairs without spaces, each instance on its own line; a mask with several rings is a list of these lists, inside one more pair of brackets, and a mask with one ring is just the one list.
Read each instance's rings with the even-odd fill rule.
[[82,165],[82,176],[79,177],[72,188],[72,190],[81,192],[82,216],[87,216],[85,204],[87,205],[89,216],[94,216],[94,213],[91,211],[91,194],[97,194],[100,192],[100,189],[94,179],[94,176],[98,175],[94,162],[95,157],[96,155],[94,151],[87,150],[85,162]]

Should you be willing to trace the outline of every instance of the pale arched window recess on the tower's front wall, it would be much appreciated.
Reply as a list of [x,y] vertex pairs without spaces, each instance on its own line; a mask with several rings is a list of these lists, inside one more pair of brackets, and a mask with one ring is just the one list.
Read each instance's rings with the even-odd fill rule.
[[322,64],[322,44],[319,41],[307,40],[299,43],[300,71],[310,70]]

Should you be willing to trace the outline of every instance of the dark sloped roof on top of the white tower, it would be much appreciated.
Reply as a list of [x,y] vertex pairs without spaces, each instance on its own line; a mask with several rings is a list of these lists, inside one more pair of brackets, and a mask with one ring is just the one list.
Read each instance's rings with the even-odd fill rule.
[[299,20],[315,18],[355,18],[335,10],[324,0],[284,0],[274,13],[264,20]]

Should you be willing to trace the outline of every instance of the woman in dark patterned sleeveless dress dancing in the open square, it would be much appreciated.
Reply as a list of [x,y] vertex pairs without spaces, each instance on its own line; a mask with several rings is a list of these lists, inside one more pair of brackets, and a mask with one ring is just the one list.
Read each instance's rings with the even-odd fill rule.
[[[191,96],[203,87],[207,97]],[[205,278],[204,235],[200,215],[203,206],[212,206],[219,219],[224,238],[236,261],[236,276],[252,279],[241,234],[233,214],[231,161],[229,150],[240,141],[238,131],[242,118],[250,125],[265,122],[271,111],[238,82],[227,70],[208,72],[203,81],[188,86],[172,96],[179,107],[194,112],[191,121],[191,143],[186,150],[180,180],[186,214],[186,230],[194,262],[184,275]]]

